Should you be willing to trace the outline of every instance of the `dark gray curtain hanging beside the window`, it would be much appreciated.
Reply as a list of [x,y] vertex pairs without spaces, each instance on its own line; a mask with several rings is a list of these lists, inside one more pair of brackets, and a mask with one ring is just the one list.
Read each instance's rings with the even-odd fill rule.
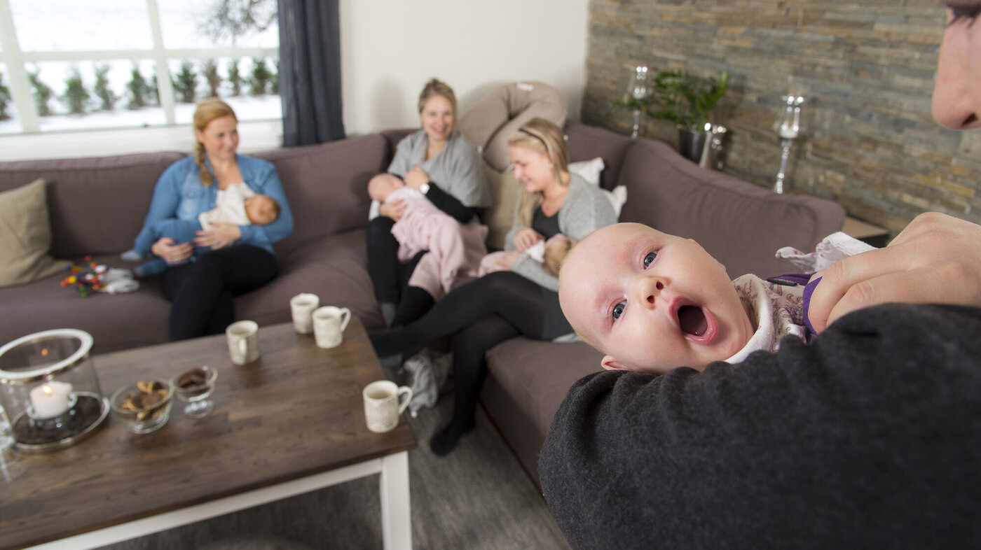
[[344,137],[337,0],[279,0],[283,144]]

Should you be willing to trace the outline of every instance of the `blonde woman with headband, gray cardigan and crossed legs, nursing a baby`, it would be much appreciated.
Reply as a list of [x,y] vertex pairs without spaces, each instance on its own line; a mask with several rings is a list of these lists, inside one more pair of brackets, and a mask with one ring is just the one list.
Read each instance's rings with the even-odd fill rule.
[[[569,152],[557,125],[529,121],[508,140],[508,154],[524,192],[507,234],[507,250],[522,252],[556,233],[579,241],[616,223],[599,188],[569,173]],[[510,271],[460,286],[418,321],[372,334],[371,340],[380,357],[408,356],[453,334],[453,419],[430,442],[434,453],[444,455],[474,426],[487,375],[484,355],[490,348],[518,335],[550,340],[571,332],[558,305],[558,278],[522,254]]]

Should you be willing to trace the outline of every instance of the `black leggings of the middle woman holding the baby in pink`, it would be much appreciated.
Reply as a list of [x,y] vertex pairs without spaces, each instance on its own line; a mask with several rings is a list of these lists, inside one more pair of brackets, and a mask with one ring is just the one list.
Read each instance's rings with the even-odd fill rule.
[[395,221],[385,216],[368,223],[368,275],[371,275],[375,285],[375,297],[379,303],[397,304],[392,326],[398,326],[422,317],[433,307],[434,300],[426,290],[408,285],[409,277],[426,251],[416,254],[399,277],[398,241],[391,234],[392,225],[395,225]]

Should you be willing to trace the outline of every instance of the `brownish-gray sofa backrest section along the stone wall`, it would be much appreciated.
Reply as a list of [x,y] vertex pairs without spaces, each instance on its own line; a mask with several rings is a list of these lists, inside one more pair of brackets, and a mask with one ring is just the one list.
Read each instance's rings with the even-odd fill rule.
[[637,140],[627,152],[620,183],[627,186],[621,222],[694,238],[733,278],[791,273],[790,262],[774,257],[778,248],[813,250],[845,222],[845,209],[837,203],[778,195],[700,168],[662,141]]

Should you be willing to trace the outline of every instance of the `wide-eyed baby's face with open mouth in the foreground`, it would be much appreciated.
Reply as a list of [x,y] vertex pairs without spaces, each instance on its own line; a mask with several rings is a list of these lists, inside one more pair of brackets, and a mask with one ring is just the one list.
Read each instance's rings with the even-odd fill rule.
[[703,369],[742,349],[754,326],[725,268],[694,240],[646,225],[602,227],[559,278],[562,312],[608,354],[605,369]]

